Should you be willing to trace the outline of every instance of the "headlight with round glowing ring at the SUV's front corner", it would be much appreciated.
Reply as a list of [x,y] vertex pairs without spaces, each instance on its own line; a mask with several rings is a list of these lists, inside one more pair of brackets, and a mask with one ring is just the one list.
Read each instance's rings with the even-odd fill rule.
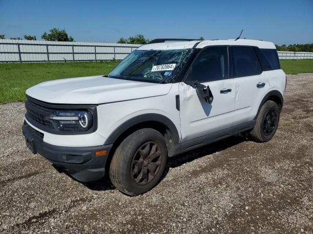
[[67,132],[88,131],[93,123],[92,114],[87,110],[58,110],[48,119],[55,130]]

